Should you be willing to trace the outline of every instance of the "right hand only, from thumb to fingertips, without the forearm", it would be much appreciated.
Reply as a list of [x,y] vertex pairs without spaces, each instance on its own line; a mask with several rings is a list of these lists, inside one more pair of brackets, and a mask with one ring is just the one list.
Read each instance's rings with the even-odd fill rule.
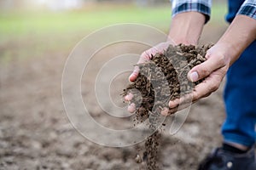
[[170,101],[169,107],[171,112],[175,112],[177,109],[184,109],[191,105],[191,102],[195,103],[197,100],[209,96],[218,89],[230,67],[229,50],[230,47],[227,44],[217,43],[207,51],[207,60],[201,65],[193,67],[188,74],[191,82],[197,82],[203,78],[206,79],[195,86],[191,94]]

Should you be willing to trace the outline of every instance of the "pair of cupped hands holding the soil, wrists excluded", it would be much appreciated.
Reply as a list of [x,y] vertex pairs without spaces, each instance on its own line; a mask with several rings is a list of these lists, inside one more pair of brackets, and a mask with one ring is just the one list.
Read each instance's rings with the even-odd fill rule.
[[[148,49],[141,55],[141,58],[137,64],[151,59],[152,55],[164,51],[164,49],[166,49],[169,45],[170,43],[163,42],[154,48]],[[188,74],[188,79],[191,82],[197,82],[205,78],[204,81],[195,86],[195,89],[193,92],[191,92],[191,94],[187,94],[180,99],[171,100],[169,102],[169,108],[163,108],[161,114],[163,116],[167,116],[171,113],[182,110],[191,105],[191,103],[195,103],[197,100],[205,98],[212,94],[212,92],[216,91],[230,67],[230,56],[227,53],[227,49],[229,48],[230,47],[228,47],[226,44],[221,43],[217,43],[216,45],[212,46],[212,48],[207,51],[207,60],[201,65],[196,65],[193,67]],[[136,80],[138,73],[138,67],[135,67],[135,70],[129,77],[131,82]],[[129,102],[131,102],[132,98],[133,94],[127,94],[125,96],[125,100]],[[136,105],[131,103],[128,106],[128,111],[131,113],[136,111]]]

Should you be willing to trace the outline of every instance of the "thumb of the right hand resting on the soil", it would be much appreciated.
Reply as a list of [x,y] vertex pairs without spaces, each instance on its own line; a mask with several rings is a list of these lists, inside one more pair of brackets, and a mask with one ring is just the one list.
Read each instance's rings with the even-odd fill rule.
[[189,71],[188,78],[191,82],[197,82],[225,65],[224,59],[211,57],[210,53],[207,53],[206,58],[207,60],[205,62],[196,65]]

